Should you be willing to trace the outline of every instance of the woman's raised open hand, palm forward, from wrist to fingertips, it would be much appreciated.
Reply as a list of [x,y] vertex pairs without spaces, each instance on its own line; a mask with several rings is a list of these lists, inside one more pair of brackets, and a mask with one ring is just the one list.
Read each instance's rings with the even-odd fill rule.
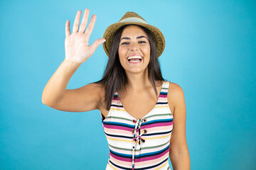
[[[89,9],[85,9],[84,16],[82,17],[82,23],[78,30],[81,13],[82,11],[78,11],[75,16],[72,34],[70,34],[70,21],[66,21],[65,23],[65,60],[79,64],[85,62],[93,52],[95,52],[96,48],[102,42],[105,42],[104,38],[100,38],[95,40],[95,42],[89,46],[89,38],[95,25],[96,16],[92,15],[91,21],[87,26]],[[85,30],[86,26],[87,29]]]

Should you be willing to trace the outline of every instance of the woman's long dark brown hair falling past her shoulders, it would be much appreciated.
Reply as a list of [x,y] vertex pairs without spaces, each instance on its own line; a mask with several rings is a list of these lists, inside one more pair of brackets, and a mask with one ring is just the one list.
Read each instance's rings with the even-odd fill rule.
[[[119,61],[119,55],[118,55],[118,48],[119,48],[119,42],[122,35],[122,31],[127,26],[131,26],[131,25],[122,26],[115,33],[114,39],[111,45],[111,49],[110,49],[110,58],[107,62],[107,66],[103,74],[103,77],[100,81],[94,82],[97,84],[105,85],[105,106],[107,106],[106,107],[107,110],[110,110],[114,92],[121,90],[122,86],[125,87],[125,84],[127,84],[127,75],[125,74],[125,70]],[[150,60],[148,65],[148,76],[152,86],[154,87],[154,91],[156,93],[156,98],[157,98],[158,96],[157,96],[155,81],[159,81],[159,80],[164,81],[164,78],[162,77],[159,60],[156,54],[156,45],[154,42],[154,37],[149,30],[147,30],[142,26],[139,26],[139,27],[142,28],[142,30],[144,30],[144,32],[149,38]]]

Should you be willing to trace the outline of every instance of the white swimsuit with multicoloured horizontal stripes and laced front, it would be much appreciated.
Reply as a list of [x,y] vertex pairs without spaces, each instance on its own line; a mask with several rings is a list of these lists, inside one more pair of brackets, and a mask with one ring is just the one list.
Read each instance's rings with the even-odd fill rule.
[[106,170],[170,169],[174,117],[167,102],[168,88],[169,81],[164,81],[156,105],[142,119],[125,111],[115,91],[110,112],[102,120],[110,147]]

